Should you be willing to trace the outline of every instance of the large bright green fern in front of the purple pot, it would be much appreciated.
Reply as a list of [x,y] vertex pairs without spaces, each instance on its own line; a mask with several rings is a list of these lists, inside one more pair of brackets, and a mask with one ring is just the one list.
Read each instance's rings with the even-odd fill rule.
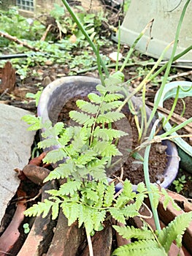
[[107,182],[107,165],[110,165],[112,157],[121,155],[116,140],[127,135],[126,132],[112,128],[115,121],[124,117],[123,113],[117,111],[122,104],[120,99],[123,98],[118,86],[120,82],[121,78],[117,74],[111,75],[105,80],[105,86],[96,86],[98,94],[88,94],[88,101],[77,100],[79,110],[69,113],[70,118],[77,123],[73,127],[65,127],[61,122],[54,127],[51,124],[41,124],[40,119],[33,116],[23,118],[28,124],[32,124],[29,129],[44,127],[44,140],[38,144],[40,148],[46,150],[55,146],[47,152],[43,161],[61,161],[45,178],[45,182],[66,178],[66,183],[58,190],[48,191],[50,200],[28,208],[26,215],[42,214],[45,217],[51,209],[55,219],[61,207],[69,225],[78,220],[79,226],[83,224],[90,235],[94,230],[101,229],[107,212],[123,223],[126,223],[128,217],[139,214],[146,196],[144,184],[138,186],[140,195],[132,191],[130,181],[125,181],[123,192],[115,200],[115,185]]

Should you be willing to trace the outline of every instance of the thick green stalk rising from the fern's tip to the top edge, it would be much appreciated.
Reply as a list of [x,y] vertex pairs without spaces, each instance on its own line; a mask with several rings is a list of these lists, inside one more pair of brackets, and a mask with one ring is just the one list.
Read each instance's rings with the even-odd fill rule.
[[94,45],[93,41],[91,40],[91,37],[89,37],[88,33],[85,31],[84,27],[82,26],[82,24],[80,23],[79,18],[77,18],[77,15],[75,15],[75,13],[73,12],[72,8],[70,7],[70,5],[68,4],[68,2],[66,0],[61,0],[64,3],[64,6],[66,7],[66,10],[68,10],[68,12],[70,13],[70,15],[72,16],[73,20],[75,23],[77,23],[78,28],[80,29],[80,31],[82,32],[82,34],[85,36],[85,38],[87,39],[89,45],[91,46],[91,48],[93,49],[93,52],[96,54],[96,56],[99,56],[99,61],[101,63],[101,66],[104,69],[105,75],[109,76],[109,72],[107,70],[107,67],[104,64],[104,61],[101,59],[100,54],[98,53],[98,50],[96,48],[96,45]]

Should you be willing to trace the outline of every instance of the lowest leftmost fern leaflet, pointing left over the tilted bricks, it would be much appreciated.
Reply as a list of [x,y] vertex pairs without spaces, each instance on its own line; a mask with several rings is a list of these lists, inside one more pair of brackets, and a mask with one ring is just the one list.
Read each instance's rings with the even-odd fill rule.
[[38,202],[37,204],[34,204],[30,208],[28,208],[26,211],[24,211],[24,214],[29,217],[39,217],[42,214],[42,217],[45,218],[53,204],[54,202],[45,199],[44,202]]

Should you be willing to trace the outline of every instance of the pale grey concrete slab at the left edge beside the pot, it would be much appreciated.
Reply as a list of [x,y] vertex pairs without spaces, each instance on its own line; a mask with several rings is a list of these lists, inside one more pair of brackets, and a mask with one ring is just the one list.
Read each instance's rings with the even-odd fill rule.
[[0,104],[0,223],[20,184],[14,169],[23,169],[31,156],[35,132],[20,120],[27,114],[27,110]]

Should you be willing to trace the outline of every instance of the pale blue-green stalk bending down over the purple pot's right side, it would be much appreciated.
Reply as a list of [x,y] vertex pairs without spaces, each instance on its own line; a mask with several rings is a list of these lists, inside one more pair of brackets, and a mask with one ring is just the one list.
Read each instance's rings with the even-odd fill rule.
[[[153,136],[155,135],[155,128],[157,127],[158,122],[159,122],[159,120],[155,121],[155,124],[153,125],[153,128],[151,129],[151,132],[150,132],[149,140],[153,139]],[[146,184],[147,190],[149,192],[150,206],[151,206],[151,209],[153,212],[155,227],[156,227],[158,233],[160,233],[161,227],[160,227],[160,223],[159,223],[159,219],[158,219],[158,211],[153,205],[153,193],[152,193],[152,189],[150,188],[150,176],[149,176],[149,167],[148,167],[150,146],[151,146],[151,144],[146,146],[146,149],[145,149],[143,169],[144,169],[144,176],[145,176],[145,184]]]

